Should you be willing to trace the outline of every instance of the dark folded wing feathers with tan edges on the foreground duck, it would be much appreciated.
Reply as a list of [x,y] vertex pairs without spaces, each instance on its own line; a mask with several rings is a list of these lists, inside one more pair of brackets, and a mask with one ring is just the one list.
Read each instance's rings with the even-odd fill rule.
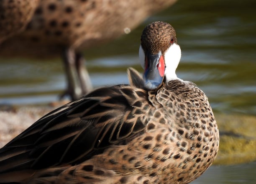
[[146,91],[118,85],[59,107],[0,149],[0,173],[76,164],[131,138],[145,128],[134,115],[138,100]]

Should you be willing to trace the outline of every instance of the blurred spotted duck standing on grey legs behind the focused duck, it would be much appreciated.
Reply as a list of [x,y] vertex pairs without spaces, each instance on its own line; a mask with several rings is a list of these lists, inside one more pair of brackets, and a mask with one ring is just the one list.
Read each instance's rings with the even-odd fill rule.
[[67,89],[60,99],[76,100],[92,90],[82,51],[129,33],[176,1],[40,0],[26,29],[0,45],[0,56],[61,56]]

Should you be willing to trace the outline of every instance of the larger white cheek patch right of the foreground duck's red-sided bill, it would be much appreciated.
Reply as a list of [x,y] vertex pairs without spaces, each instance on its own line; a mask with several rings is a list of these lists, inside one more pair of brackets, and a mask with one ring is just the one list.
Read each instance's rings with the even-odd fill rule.
[[166,66],[165,68],[166,81],[178,79],[175,71],[178,67],[180,58],[181,58],[180,47],[176,43],[173,43],[164,54],[164,61]]

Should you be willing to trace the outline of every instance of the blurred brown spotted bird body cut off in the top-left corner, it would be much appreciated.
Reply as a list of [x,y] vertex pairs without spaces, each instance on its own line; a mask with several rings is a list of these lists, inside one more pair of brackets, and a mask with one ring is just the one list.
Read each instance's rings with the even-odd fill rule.
[[39,0],[0,1],[0,43],[26,28],[38,2]]

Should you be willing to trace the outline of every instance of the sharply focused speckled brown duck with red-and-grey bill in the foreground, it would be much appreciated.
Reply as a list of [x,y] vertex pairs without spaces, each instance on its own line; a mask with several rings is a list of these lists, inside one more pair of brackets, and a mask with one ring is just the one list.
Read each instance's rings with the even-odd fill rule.
[[39,119],[0,149],[0,182],[187,184],[214,161],[218,127],[206,95],[177,78],[174,28],[141,36],[143,77],[96,89]]

